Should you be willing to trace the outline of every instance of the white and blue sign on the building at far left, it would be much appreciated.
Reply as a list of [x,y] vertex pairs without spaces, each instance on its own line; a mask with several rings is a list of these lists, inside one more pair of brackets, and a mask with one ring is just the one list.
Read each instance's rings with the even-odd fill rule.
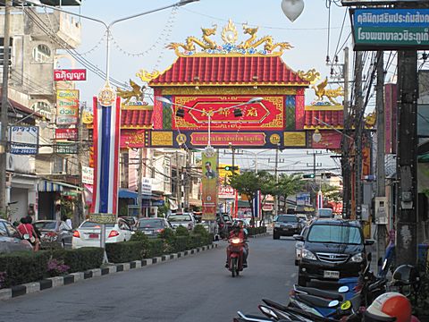
[[10,141],[12,154],[35,155],[38,154],[38,127],[37,126],[11,126]]

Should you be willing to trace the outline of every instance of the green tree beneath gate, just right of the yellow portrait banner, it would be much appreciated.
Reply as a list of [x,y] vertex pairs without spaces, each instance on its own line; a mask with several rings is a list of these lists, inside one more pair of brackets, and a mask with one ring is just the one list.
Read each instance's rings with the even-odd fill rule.
[[233,174],[230,179],[230,185],[236,191],[248,197],[248,205],[252,211],[252,223],[255,221],[255,213],[252,207],[252,200],[255,199],[257,191],[262,191],[268,187],[272,175],[266,171],[257,174],[254,172],[244,172],[242,174]]

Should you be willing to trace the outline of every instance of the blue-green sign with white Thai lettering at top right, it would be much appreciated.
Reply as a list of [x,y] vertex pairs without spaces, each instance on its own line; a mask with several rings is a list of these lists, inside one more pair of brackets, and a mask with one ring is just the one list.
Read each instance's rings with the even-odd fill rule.
[[429,49],[429,9],[357,9],[355,50]]

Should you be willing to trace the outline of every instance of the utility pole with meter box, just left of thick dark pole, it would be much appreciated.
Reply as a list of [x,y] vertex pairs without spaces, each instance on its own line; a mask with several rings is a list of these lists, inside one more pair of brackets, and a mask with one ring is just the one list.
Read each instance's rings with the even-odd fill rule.
[[[376,184],[377,197],[385,197],[385,169],[384,169],[384,52],[377,52],[377,85],[376,85],[376,119],[377,119],[377,161],[376,161]],[[377,258],[383,257],[386,250],[386,225],[375,214],[377,224]]]

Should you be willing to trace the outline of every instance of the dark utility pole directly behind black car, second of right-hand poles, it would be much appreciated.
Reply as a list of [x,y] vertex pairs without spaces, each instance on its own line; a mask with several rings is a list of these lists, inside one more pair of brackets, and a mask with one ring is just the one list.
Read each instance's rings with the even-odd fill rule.
[[[362,135],[364,133],[363,107],[364,97],[362,93],[362,52],[355,55],[355,205],[352,208],[352,219],[361,219],[362,215]],[[354,216],[353,216],[354,215]]]

